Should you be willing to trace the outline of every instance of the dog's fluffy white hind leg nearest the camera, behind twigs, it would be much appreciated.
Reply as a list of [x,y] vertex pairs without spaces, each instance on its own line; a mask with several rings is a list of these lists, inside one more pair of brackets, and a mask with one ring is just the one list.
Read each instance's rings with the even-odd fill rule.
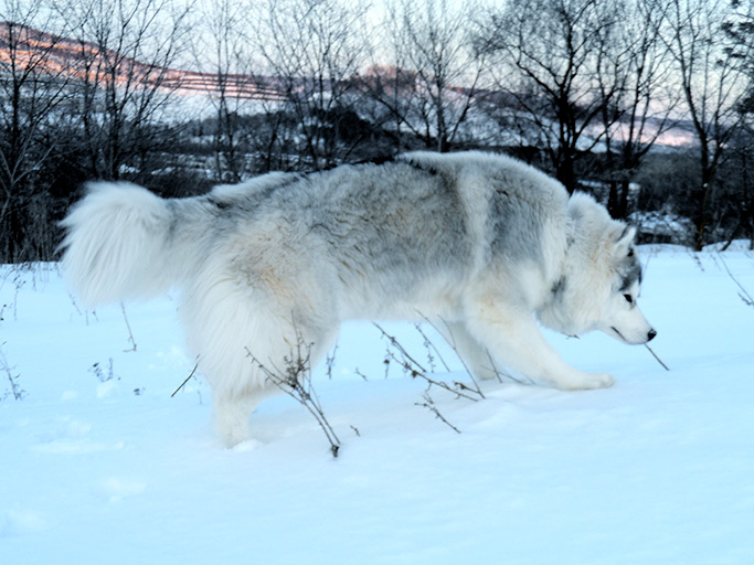
[[182,318],[199,371],[212,387],[214,423],[227,446],[251,438],[254,408],[279,388],[270,373],[286,374],[298,348],[314,367],[334,331],[283,307],[270,294],[244,288],[231,278],[202,279],[183,297]]

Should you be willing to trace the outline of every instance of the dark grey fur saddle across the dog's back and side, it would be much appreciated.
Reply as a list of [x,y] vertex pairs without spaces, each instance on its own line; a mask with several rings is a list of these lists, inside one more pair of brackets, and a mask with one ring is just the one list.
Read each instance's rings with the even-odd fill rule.
[[276,217],[288,237],[327,246],[323,258],[338,258],[341,279],[368,268],[383,286],[400,280],[400,290],[428,273],[461,277],[500,255],[542,265],[542,230],[564,222],[567,194],[532,172],[505,156],[416,152],[308,175],[273,173],[200,200],[216,237],[230,225],[254,230]]

